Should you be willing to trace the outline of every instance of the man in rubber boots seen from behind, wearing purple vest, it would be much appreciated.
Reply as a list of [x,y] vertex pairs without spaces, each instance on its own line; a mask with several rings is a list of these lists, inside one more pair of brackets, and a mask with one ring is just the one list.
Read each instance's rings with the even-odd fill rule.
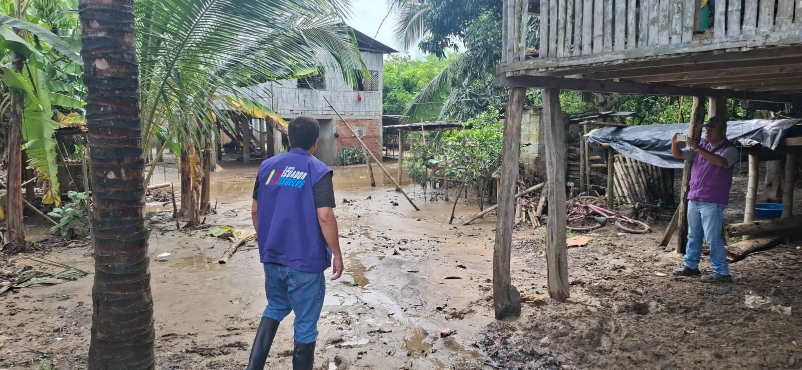
[[248,370],[265,368],[278,324],[290,311],[295,313],[293,369],[312,370],[326,294],[323,272],[332,266],[331,280],[342,274],[332,171],[312,157],[320,125],[298,117],[290,122],[289,134],[290,152],[263,161],[253,189],[251,216],[268,303]]

